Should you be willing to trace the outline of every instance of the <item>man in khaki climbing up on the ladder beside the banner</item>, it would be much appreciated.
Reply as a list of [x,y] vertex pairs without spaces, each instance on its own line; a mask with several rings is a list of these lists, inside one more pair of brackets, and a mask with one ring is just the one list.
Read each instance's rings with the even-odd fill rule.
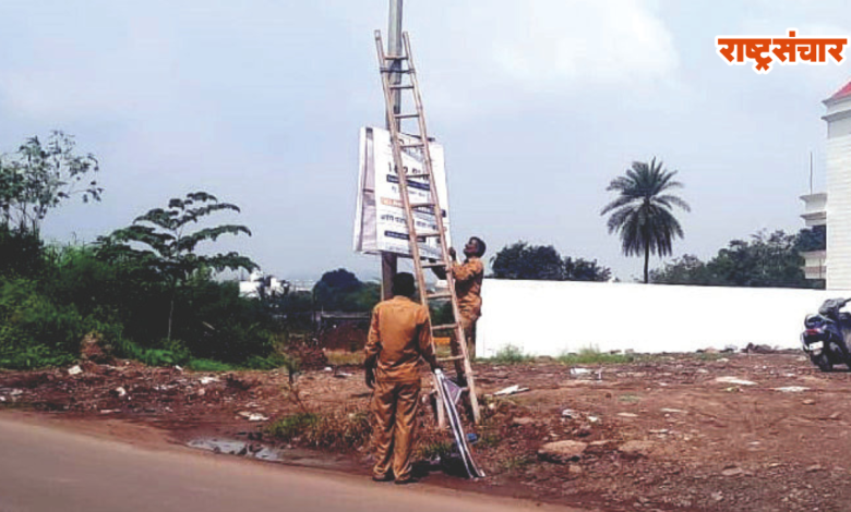
[[478,236],[470,236],[464,246],[464,255],[467,259],[463,264],[455,261],[455,248],[450,248],[453,264],[450,267],[452,277],[455,278],[455,296],[458,297],[460,322],[464,328],[464,338],[467,339],[467,357],[476,358],[476,321],[481,316],[481,281],[484,277],[484,265],[481,257],[484,255],[484,241]]

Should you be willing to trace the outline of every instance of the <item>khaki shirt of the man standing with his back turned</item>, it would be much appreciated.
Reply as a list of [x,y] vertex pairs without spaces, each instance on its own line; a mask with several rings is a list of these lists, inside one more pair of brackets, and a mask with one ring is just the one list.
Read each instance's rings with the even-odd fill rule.
[[420,357],[438,364],[425,306],[398,295],[379,303],[372,310],[365,352],[367,365],[376,366],[376,381],[419,380]]

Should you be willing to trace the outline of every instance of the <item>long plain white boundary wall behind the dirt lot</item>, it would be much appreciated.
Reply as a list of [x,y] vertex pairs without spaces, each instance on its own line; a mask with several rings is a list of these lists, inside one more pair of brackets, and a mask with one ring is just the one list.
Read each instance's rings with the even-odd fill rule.
[[601,352],[693,352],[800,346],[804,317],[851,291],[679,287],[486,279],[477,355],[506,345],[558,356]]

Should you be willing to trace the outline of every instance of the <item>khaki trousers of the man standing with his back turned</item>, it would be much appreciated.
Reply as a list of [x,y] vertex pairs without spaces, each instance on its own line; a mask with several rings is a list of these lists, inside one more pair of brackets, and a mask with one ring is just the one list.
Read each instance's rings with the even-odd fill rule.
[[375,467],[372,475],[396,480],[411,478],[411,454],[420,403],[420,380],[375,382],[372,394],[374,415]]

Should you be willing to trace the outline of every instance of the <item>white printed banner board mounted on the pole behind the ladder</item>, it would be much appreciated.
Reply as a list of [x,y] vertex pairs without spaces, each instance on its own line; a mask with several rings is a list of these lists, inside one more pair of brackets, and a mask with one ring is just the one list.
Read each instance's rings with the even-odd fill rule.
[[[415,139],[405,143],[412,143]],[[429,144],[432,173],[438,198],[443,208],[443,225],[450,244],[448,194],[446,171],[443,164],[443,146]],[[358,200],[355,215],[353,249],[359,253],[396,253],[410,257],[408,229],[399,193],[399,176],[393,164],[389,132],[376,127],[360,130],[360,166]],[[422,156],[415,149],[403,149],[401,162],[406,173],[423,172]],[[408,196],[411,203],[431,202],[429,181],[424,178],[408,179]],[[436,231],[434,214],[427,208],[415,210],[417,231]],[[440,241],[429,237],[420,241],[420,256],[440,258]]]

